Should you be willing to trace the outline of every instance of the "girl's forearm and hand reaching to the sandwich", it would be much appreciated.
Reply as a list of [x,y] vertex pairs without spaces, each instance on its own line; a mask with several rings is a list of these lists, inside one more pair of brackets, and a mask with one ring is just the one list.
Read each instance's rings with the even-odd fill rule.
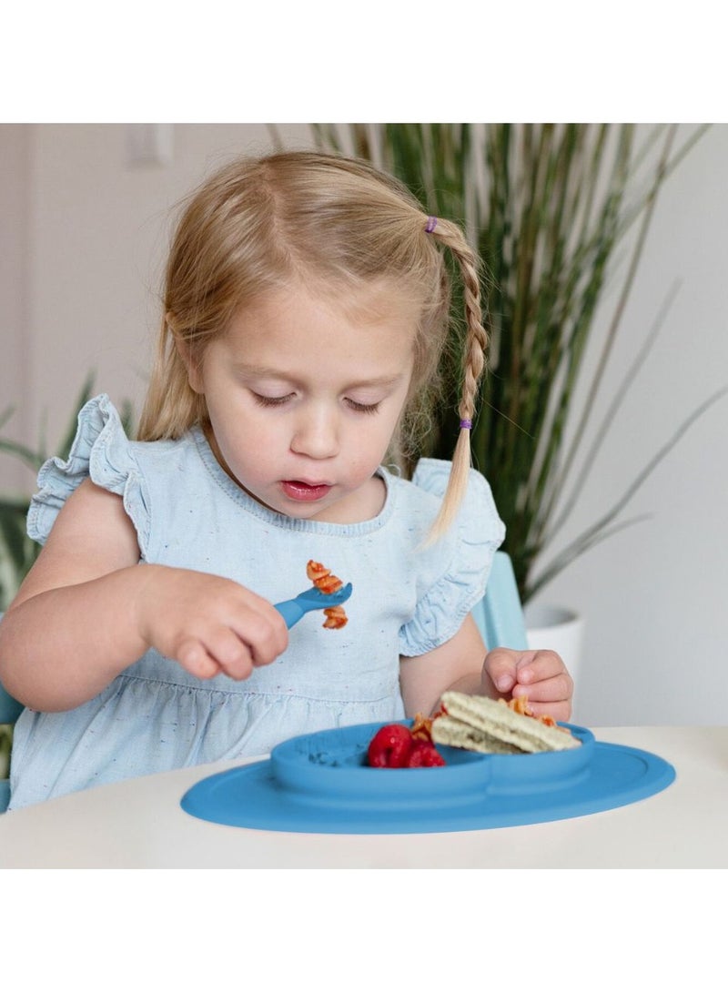
[[415,658],[401,658],[399,682],[407,717],[432,714],[446,690],[494,699],[526,696],[535,714],[571,716],[573,680],[555,651],[494,648],[488,652],[473,617],[454,638]]

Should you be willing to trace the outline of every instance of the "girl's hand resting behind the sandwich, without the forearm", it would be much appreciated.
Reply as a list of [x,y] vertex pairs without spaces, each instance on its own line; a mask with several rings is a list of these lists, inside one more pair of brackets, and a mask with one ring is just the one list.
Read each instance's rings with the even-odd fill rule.
[[536,715],[547,714],[556,721],[571,716],[574,681],[555,651],[494,648],[483,663],[483,681],[491,684],[489,696],[527,697]]

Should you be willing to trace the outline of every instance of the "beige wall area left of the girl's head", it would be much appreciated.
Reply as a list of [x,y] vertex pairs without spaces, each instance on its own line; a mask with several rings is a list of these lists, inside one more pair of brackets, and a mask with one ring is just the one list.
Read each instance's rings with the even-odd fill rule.
[[[280,131],[310,143],[304,125]],[[126,125],[0,126],[11,186],[26,194],[10,195],[13,237],[28,246],[3,281],[18,316],[2,397],[21,405],[31,437],[47,412],[53,442],[89,370],[139,406],[174,206],[226,157],[271,144],[265,125],[176,125],[171,162],[133,164],[129,138]]]

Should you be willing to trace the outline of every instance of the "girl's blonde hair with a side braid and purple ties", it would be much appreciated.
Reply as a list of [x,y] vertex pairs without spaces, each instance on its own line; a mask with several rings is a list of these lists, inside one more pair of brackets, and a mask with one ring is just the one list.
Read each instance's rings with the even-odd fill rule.
[[[434,223],[434,227],[433,227]],[[396,288],[419,320],[409,396],[390,457],[416,450],[429,425],[448,342],[450,279],[440,246],[456,259],[466,314],[459,413],[472,420],[487,345],[479,262],[457,224],[429,218],[398,181],[359,159],[318,152],[243,158],[220,169],[189,199],[173,238],[164,319],[138,437],[178,438],[208,421],[190,386],[188,360],[254,299],[312,279],[333,297],[374,281]],[[467,485],[470,432],[461,429],[433,535],[450,524]]]

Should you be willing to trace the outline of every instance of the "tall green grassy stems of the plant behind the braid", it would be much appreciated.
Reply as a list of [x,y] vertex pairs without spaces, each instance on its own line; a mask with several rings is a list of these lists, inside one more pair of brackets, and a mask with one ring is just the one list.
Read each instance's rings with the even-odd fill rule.
[[[704,130],[694,128],[675,148],[676,127],[668,125],[649,129],[639,144],[631,124],[314,125],[319,147],[369,159],[397,176],[428,213],[460,221],[485,260],[489,373],[472,449],[506,522],[505,547],[524,603],[577,556],[634,522],[621,517],[629,500],[690,424],[726,392],[692,411],[622,497],[549,557],[654,345],[659,324],[587,448],[593,401],[623,323],[657,195]],[[616,274],[614,314],[597,335],[598,307]],[[455,299],[458,339],[461,313]],[[600,354],[585,392],[590,340]],[[442,416],[422,454],[449,458],[453,451],[456,360],[446,375]]]

